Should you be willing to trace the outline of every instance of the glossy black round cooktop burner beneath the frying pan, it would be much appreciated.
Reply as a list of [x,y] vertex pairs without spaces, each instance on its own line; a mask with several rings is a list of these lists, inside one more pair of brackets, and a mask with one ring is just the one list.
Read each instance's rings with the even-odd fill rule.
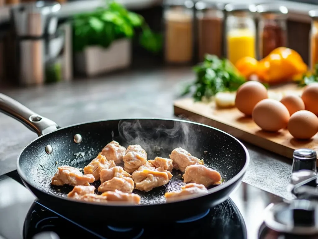
[[[171,212],[177,213],[177,212]],[[134,220],[138,215],[127,215]],[[111,217],[111,215],[105,215]],[[169,217],[169,215],[167,215]],[[43,231],[53,231],[60,239],[75,238],[247,238],[244,219],[231,199],[217,207],[191,218],[175,223],[152,226],[120,228],[112,227],[93,218],[70,220],[67,214],[60,215],[44,203],[32,203],[24,221],[23,238],[32,238]]]

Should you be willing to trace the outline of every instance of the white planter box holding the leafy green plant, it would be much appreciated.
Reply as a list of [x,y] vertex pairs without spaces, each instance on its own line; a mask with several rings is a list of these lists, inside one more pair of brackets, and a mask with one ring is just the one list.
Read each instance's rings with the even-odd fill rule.
[[114,41],[108,48],[89,46],[75,54],[75,70],[87,76],[127,68],[130,63],[130,39]]

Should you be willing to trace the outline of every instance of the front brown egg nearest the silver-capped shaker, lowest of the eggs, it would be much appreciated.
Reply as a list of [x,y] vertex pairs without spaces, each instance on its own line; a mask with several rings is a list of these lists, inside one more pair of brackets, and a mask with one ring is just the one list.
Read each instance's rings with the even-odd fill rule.
[[310,139],[318,132],[318,117],[308,110],[297,111],[288,121],[288,131],[296,139]]

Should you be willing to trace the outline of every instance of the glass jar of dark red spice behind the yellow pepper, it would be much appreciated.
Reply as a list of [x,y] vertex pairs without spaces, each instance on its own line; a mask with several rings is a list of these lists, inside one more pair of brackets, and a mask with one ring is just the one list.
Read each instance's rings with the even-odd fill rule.
[[258,5],[259,19],[259,57],[262,59],[274,49],[287,46],[287,13],[280,5]]

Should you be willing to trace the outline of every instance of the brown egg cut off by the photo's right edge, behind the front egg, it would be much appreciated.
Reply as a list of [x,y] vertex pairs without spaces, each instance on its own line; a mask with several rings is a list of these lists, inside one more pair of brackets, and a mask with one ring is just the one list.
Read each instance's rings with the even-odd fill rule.
[[318,115],[318,83],[306,86],[301,98],[305,103],[305,109]]

